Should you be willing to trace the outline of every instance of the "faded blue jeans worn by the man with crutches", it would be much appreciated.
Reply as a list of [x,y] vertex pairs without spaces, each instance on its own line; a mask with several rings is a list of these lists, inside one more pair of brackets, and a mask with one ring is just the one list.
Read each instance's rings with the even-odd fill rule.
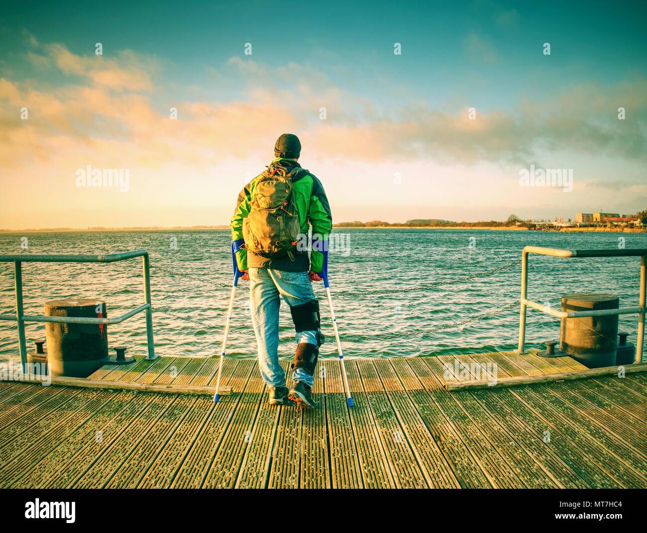
[[[258,344],[258,366],[263,381],[270,387],[285,386],[285,372],[279,364],[279,308],[281,296],[289,306],[314,300],[314,291],[307,272],[287,272],[269,268],[249,271],[252,324]],[[299,331],[296,344],[317,344],[316,331]],[[303,368],[295,368],[294,381],[313,386],[314,377]]]

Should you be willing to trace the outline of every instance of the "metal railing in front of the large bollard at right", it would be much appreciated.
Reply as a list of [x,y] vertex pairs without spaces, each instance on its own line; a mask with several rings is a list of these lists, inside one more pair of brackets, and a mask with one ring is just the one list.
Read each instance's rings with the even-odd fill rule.
[[[598,309],[597,311],[556,311],[537,302],[533,302],[527,298],[528,289],[528,256],[531,254],[549,255],[553,257],[640,257],[641,258],[641,282],[639,294],[639,306],[619,309]],[[558,319],[574,319],[578,317],[604,317],[608,315],[638,315],[638,336],[636,340],[636,359],[635,362],[639,363],[642,359],[642,340],[644,337],[644,321],[645,321],[645,292],[646,292],[646,276],[645,265],[647,264],[647,249],[633,249],[633,250],[560,250],[556,248],[542,248],[538,246],[526,246],[521,253],[521,311],[519,319],[519,346],[518,353],[525,353],[523,351],[523,343],[525,339],[525,318],[526,309],[531,307],[538,311],[543,311],[548,315]]]

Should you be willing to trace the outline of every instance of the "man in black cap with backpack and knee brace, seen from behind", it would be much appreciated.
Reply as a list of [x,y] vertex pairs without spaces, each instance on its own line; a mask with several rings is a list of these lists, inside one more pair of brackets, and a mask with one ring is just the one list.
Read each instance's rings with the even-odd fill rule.
[[[242,279],[250,281],[258,364],[270,390],[269,402],[283,404],[290,399],[313,408],[311,389],[323,335],[311,283],[322,280],[323,253],[313,246],[308,258],[303,243],[310,225],[313,238],[327,240],[333,222],[322,183],[301,167],[300,155],[296,135],[278,138],[272,163],[239,193],[231,228],[232,240],[245,242],[236,260],[245,273]],[[281,297],[290,306],[296,329],[290,391],[278,357]]]

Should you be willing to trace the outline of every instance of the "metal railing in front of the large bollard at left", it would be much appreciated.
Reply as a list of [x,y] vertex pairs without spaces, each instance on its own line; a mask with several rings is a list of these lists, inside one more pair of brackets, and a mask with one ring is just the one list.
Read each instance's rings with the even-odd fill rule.
[[[90,317],[45,317],[44,315],[25,315],[23,312],[23,263],[114,263],[135,257],[142,258],[144,273],[144,300],[145,303],[131,309],[124,315],[115,319],[102,319]],[[151,308],[151,280],[148,250],[133,250],[130,252],[113,253],[107,255],[52,255],[52,254],[16,254],[0,255],[0,262],[14,263],[14,282],[16,287],[16,314],[0,313],[0,320],[14,320],[18,324],[18,342],[20,361],[23,371],[28,373],[27,342],[25,341],[25,322],[64,322],[68,324],[119,324],[146,311],[146,341],[148,344],[147,359],[156,359],[155,342],[153,341],[153,309]]]

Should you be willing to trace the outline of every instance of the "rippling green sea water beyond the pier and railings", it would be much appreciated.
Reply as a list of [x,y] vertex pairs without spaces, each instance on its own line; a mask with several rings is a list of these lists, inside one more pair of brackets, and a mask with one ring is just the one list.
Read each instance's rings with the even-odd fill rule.
[[[556,233],[470,229],[335,229],[329,252],[334,310],[347,357],[408,357],[514,350],[519,308],[452,326],[503,308],[520,297],[521,266],[446,283],[506,266],[524,246],[567,249],[647,248],[647,234]],[[343,244],[342,245],[340,245]],[[210,357],[219,353],[230,295],[230,234],[212,231],[80,231],[3,233],[0,253],[98,254],[146,248],[151,255],[153,328],[159,355]],[[563,259],[531,256],[528,297],[553,308],[573,292],[612,292],[621,306],[637,306],[639,264],[632,258]],[[171,275],[169,272],[181,274]],[[444,283],[415,290],[417,287]],[[98,298],[117,317],[144,302],[140,258],[110,264],[24,263],[25,314],[43,314],[57,298]],[[323,357],[336,356],[322,284]],[[377,293],[377,294],[376,294]],[[255,357],[247,282],[239,282],[228,343],[230,357]],[[14,313],[14,266],[0,263],[0,313]],[[620,331],[635,342],[636,315],[620,317]],[[449,327],[448,327],[449,326]],[[419,334],[425,329],[443,328]],[[109,326],[111,346],[146,353],[144,313]],[[528,309],[527,346],[558,340],[560,322]],[[45,325],[27,323],[31,341]],[[294,326],[281,304],[280,354],[294,353]],[[15,322],[0,321],[0,359],[17,357]]]

